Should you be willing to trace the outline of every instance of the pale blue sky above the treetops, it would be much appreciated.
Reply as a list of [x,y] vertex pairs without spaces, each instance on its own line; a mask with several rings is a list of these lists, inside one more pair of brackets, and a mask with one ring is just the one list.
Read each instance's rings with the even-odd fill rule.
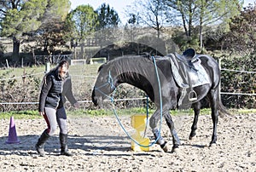
[[[111,8],[117,11],[117,13],[119,14],[119,18],[122,20],[122,22],[125,22],[126,6],[131,5],[131,3],[133,3],[134,1],[136,0],[70,0],[71,9],[75,9],[77,6],[82,4],[90,4],[93,9],[97,9],[102,5],[102,3],[107,3]],[[246,7],[248,3],[253,3],[255,1],[256,0],[244,0],[244,7]]]

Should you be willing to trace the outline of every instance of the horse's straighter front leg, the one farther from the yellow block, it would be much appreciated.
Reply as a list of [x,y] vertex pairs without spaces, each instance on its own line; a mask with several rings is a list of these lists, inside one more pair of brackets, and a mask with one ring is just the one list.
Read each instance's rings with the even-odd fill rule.
[[174,128],[174,123],[172,121],[172,117],[171,117],[169,112],[166,113],[165,118],[166,118],[166,123],[167,123],[167,125],[168,125],[168,127],[169,127],[169,129],[171,131],[172,144],[173,144],[172,152],[174,152],[175,149],[178,148],[178,146],[180,145],[180,140],[179,140],[179,138],[177,136],[177,132],[176,132],[176,129]]

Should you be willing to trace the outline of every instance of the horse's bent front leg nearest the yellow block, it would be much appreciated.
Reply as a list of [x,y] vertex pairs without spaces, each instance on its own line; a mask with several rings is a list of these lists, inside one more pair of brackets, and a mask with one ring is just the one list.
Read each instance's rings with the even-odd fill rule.
[[164,150],[164,152],[167,152],[168,151],[168,148],[166,146],[167,142],[161,136],[160,129],[157,127],[157,123],[159,121],[160,121],[160,110],[156,110],[149,120],[149,126],[152,129],[155,140],[157,140],[156,143],[160,145],[160,147]]

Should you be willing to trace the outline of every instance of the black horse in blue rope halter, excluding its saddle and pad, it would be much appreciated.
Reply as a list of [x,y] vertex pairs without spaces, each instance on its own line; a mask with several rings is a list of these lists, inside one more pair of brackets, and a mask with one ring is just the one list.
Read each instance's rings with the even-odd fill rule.
[[[102,105],[102,100],[110,98],[109,95],[121,83],[129,83],[142,89],[156,106],[156,111],[149,119],[149,126],[153,131],[154,137],[161,148],[167,152],[166,141],[160,136],[157,123],[160,121],[160,114],[166,119],[166,123],[172,134],[172,151],[180,145],[174,123],[170,115],[170,110],[177,108],[177,102],[182,94],[182,88],[177,85],[172,74],[170,57],[146,58],[144,56],[124,56],[100,66],[98,77],[92,91],[92,101],[97,105]],[[201,65],[205,68],[209,83],[193,88],[197,95],[197,100],[193,100],[192,107],[195,118],[191,127],[189,139],[195,136],[197,129],[198,116],[201,109],[200,101],[207,97],[212,109],[212,140],[210,146],[217,140],[218,111],[225,113],[224,106],[219,99],[218,84],[220,81],[220,70],[218,63],[211,56],[201,54],[197,57],[201,60]],[[155,62],[155,63],[154,63]],[[156,64],[156,65],[155,65]]]

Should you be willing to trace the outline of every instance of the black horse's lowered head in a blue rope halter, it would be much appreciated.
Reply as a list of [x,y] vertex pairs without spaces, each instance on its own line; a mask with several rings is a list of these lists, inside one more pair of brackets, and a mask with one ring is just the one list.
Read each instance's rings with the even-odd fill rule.
[[100,66],[98,71],[98,77],[92,90],[91,100],[95,106],[102,105],[103,100],[109,98],[109,95],[116,88],[116,81],[111,74],[111,69],[108,64]]

